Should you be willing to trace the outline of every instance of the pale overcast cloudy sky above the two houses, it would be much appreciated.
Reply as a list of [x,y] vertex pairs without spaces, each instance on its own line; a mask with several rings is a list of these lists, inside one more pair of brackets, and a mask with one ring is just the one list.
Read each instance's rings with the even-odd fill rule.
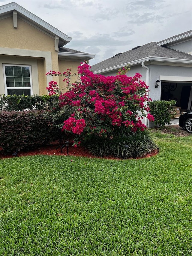
[[[5,5],[14,0],[0,0]],[[190,0],[15,0],[72,41],[65,45],[95,54],[92,66],[138,45],[192,29]]]

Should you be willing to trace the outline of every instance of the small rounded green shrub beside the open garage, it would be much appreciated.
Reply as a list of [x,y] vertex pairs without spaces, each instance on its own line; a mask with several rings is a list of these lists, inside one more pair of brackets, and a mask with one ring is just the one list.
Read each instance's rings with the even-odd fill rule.
[[171,118],[175,115],[175,100],[171,101],[151,101],[149,102],[150,113],[154,116],[156,125],[164,127],[170,124]]

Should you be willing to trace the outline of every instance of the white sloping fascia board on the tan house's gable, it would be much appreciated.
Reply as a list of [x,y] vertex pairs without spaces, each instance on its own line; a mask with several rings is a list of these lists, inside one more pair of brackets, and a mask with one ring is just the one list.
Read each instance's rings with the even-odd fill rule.
[[69,38],[67,35],[59,31],[58,29],[51,26],[49,23],[45,22],[44,20],[41,20],[39,17],[37,17],[35,14],[32,14],[31,12],[27,11],[25,8],[23,8],[20,5],[17,5],[16,3],[10,3],[8,5],[3,5],[0,7],[0,14],[10,12],[10,11],[18,11],[20,14],[26,16],[28,19],[33,20],[35,23],[38,23],[38,25],[44,27],[45,29],[48,29],[50,32],[54,33],[58,37],[62,38],[65,41],[71,41],[72,38]]

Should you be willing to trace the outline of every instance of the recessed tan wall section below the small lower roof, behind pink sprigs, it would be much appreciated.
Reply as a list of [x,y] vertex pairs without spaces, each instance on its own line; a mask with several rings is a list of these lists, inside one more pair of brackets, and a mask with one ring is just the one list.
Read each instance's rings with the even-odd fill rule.
[[[80,61],[68,61],[68,60],[62,60],[59,59],[59,72],[63,74],[64,71],[67,71],[67,68],[71,68],[71,74],[76,74],[77,73],[77,67],[80,65]],[[61,76],[59,77],[59,87],[62,90],[62,92],[67,91],[65,85],[66,83],[63,82],[65,77]],[[54,79],[53,79],[54,80]],[[77,80],[77,75],[71,77],[71,83],[76,82]],[[55,80],[54,80],[55,81]]]

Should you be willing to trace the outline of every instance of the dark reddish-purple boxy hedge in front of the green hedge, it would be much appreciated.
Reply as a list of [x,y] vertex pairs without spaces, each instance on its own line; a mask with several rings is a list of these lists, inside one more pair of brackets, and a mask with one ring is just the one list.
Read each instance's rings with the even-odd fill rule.
[[4,154],[47,145],[59,137],[49,111],[0,111],[0,148]]

